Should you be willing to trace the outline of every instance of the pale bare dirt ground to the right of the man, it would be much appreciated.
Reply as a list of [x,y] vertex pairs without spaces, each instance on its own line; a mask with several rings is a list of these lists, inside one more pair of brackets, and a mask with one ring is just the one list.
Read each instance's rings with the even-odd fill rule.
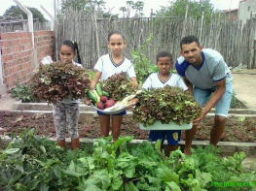
[[239,101],[249,108],[256,109],[256,69],[243,69],[232,71],[234,81],[234,91]]

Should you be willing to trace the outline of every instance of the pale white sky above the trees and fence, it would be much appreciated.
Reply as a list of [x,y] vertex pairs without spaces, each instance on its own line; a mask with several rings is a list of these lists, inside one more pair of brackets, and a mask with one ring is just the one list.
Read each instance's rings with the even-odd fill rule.
[[[46,14],[46,12],[41,8],[43,6],[49,14],[55,16],[54,12],[54,2],[61,3],[61,0],[18,0],[21,4],[27,7],[37,8],[46,19],[50,20],[51,17]],[[111,10],[112,14],[120,14],[120,7],[126,7],[127,0],[104,0],[106,2],[107,10]],[[136,2],[138,0],[133,0]],[[141,0],[144,4],[143,13],[145,16],[150,16],[151,9],[153,12],[156,10],[160,10],[161,6],[169,5],[169,2],[175,0]],[[210,3],[214,5],[215,9],[219,10],[229,10],[229,9],[237,9],[239,0],[210,0]],[[9,9],[11,6],[17,5],[13,0],[0,0],[0,16],[3,16],[5,11]],[[57,3],[56,3],[57,7]]]

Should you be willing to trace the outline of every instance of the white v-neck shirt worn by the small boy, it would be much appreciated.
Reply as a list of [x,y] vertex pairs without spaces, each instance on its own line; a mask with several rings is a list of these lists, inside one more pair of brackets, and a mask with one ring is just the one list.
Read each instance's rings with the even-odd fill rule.
[[153,73],[151,74],[147,80],[142,85],[143,89],[148,88],[158,88],[158,87],[165,87],[165,85],[169,86],[178,86],[181,87],[184,91],[188,89],[187,85],[183,81],[182,77],[180,77],[177,74],[171,74],[169,75],[168,79],[162,80],[159,73]]

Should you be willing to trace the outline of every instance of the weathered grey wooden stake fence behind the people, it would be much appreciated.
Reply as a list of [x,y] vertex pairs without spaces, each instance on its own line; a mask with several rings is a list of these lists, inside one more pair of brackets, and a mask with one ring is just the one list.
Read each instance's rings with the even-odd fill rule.
[[229,66],[236,67],[241,63],[248,68],[256,68],[255,28],[254,18],[241,26],[241,22],[229,22],[221,16],[212,16],[206,25],[203,19],[192,17],[103,19],[70,10],[56,22],[55,47],[57,54],[62,40],[76,41],[84,66],[92,68],[98,57],[108,52],[107,35],[110,31],[119,30],[125,35],[127,48],[124,53],[129,58],[130,52],[144,45],[153,33],[154,38],[143,53],[154,64],[156,54],[161,50],[169,50],[175,60],[179,56],[181,38],[196,35],[203,48],[218,50]]

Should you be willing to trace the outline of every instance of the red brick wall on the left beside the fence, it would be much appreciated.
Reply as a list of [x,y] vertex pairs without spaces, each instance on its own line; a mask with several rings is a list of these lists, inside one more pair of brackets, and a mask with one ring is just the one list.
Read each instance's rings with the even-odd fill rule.
[[[35,69],[31,36],[31,33],[26,32],[0,33],[3,82],[7,90],[17,82],[24,83],[31,78]],[[35,31],[34,43],[38,63],[47,55],[53,56],[53,31]]]

